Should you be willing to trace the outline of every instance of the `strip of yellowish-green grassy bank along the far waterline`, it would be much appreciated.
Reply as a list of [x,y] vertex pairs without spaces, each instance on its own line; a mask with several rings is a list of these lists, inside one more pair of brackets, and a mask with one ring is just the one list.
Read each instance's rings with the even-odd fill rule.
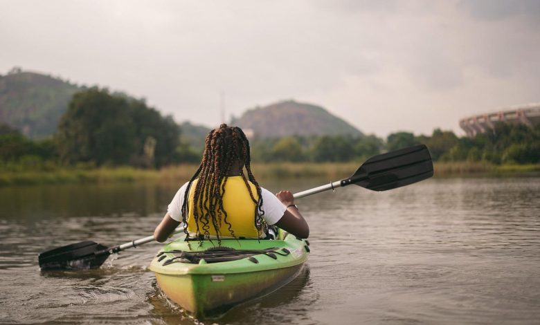
[[[338,180],[352,174],[360,163],[269,163],[254,164],[253,173],[260,179],[321,177]],[[132,167],[97,169],[53,169],[49,171],[0,171],[0,186],[33,184],[80,184],[160,182],[188,180],[196,165],[179,165],[160,170]],[[492,165],[489,163],[435,163],[435,176],[526,176],[540,175],[540,164]]]

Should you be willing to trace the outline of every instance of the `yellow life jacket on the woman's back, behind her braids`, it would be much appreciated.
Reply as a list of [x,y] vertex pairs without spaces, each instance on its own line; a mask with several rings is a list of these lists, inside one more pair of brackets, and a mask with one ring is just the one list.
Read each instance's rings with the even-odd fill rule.
[[[197,187],[197,180],[194,180],[190,187],[190,192],[188,196],[188,232],[190,234],[195,234],[197,232],[197,225],[195,224],[195,216],[193,212],[195,211],[194,196],[195,196],[195,187]],[[255,201],[258,201],[259,196],[257,194],[257,188],[253,183],[249,182],[249,187],[251,187],[251,193],[255,198]],[[201,195],[202,196],[202,195]],[[199,197],[204,199],[204,196]],[[249,195],[248,188],[246,183],[242,179],[242,176],[229,176],[227,178],[227,183],[225,183],[225,194],[223,196],[223,208],[227,212],[227,222],[231,223],[235,236],[237,237],[258,237],[264,236],[264,234],[259,234],[257,228],[255,228],[255,205],[251,196]],[[218,218],[218,208],[216,207],[215,215]],[[199,216],[203,215],[197,206],[197,212]],[[200,217],[199,217],[200,218]],[[221,217],[221,223],[218,221],[219,225],[219,236],[227,237],[232,236],[231,232],[228,230],[228,225],[224,222],[225,216]],[[199,220],[199,232],[204,234],[203,231],[204,223]],[[212,221],[208,223],[208,231],[210,236],[216,236]]]

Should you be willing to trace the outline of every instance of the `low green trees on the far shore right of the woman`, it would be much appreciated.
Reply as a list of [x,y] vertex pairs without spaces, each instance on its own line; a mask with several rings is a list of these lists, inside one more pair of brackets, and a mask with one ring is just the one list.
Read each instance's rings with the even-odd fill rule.
[[524,124],[496,124],[494,130],[475,138],[459,138],[452,131],[435,129],[431,136],[397,132],[386,140],[376,136],[254,139],[251,147],[253,159],[260,162],[346,162],[418,144],[427,145],[435,161],[540,163],[540,126]]

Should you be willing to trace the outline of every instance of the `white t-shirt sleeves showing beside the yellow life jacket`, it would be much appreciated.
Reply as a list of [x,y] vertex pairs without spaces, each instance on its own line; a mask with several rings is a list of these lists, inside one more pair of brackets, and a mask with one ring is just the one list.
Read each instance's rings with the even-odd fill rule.
[[[189,182],[180,187],[177,194],[174,195],[174,198],[172,198],[172,201],[167,209],[167,212],[171,218],[178,222],[182,221],[183,198],[186,195],[188,183]],[[287,210],[287,207],[285,207],[285,205],[283,205],[283,203],[281,203],[281,201],[268,189],[261,187],[260,191],[262,194],[262,210],[264,211],[264,216],[262,216],[262,218],[267,222],[267,224],[273,225],[281,219],[285,213],[285,210]]]

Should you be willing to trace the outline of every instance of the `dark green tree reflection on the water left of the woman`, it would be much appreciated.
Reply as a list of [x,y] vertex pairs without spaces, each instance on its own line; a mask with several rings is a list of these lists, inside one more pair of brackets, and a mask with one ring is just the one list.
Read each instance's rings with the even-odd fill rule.
[[[0,187],[1,219],[147,215],[163,212],[175,190],[156,184]],[[174,192],[173,192],[174,191]]]

